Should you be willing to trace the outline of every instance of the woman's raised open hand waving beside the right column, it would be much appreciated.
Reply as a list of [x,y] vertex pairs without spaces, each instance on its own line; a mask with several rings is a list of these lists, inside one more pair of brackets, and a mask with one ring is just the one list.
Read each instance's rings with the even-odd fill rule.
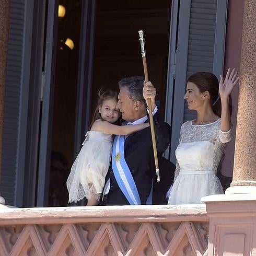
[[228,68],[228,72],[226,74],[225,80],[222,75],[220,76],[219,96],[221,99],[228,98],[228,96],[231,94],[232,89],[234,88],[237,81],[239,80],[239,76],[237,77],[236,69],[233,68],[231,73],[230,71],[231,71],[231,68]]

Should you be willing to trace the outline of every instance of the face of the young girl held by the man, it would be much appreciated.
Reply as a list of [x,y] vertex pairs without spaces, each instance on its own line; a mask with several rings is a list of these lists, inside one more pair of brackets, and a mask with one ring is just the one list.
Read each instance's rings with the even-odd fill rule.
[[102,106],[99,107],[99,112],[101,118],[109,123],[114,123],[120,117],[120,112],[115,106],[117,105],[117,100],[108,99],[104,100]]

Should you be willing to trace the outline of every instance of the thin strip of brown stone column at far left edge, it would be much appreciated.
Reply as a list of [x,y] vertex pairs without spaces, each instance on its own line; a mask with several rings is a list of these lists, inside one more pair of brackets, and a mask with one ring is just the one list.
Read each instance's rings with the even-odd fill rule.
[[[8,32],[9,32],[9,10],[10,0],[0,0],[0,176],[2,163],[2,139],[4,124],[4,100],[5,100],[5,83],[6,83],[6,64],[8,50]],[[0,204],[5,200],[0,196]]]

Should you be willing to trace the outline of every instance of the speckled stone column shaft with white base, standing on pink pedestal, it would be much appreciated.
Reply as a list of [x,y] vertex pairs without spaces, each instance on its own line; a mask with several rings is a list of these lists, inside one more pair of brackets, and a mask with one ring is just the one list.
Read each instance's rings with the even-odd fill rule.
[[[256,194],[256,2],[246,0],[243,13],[240,87],[234,171],[226,194]],[[235,43],[235,42],[234,42]],[[234,53],[235,54],[235,53]]]

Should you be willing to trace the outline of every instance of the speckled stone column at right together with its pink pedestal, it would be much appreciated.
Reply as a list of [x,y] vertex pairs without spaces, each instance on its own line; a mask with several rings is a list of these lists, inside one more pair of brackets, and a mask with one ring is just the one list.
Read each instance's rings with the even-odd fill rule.
[[201,199],[210,220],[208,256],[256,255],[255,24],[256,1],[245,0],[234,177],[225,195]]

